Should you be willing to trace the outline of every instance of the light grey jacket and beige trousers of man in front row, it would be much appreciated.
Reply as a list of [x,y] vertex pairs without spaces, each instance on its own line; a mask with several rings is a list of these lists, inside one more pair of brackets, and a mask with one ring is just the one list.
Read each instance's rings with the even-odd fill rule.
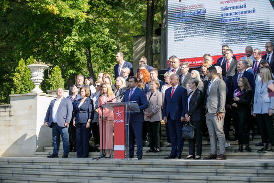
[[[210,90],[209,90],[210,88]],[[206,125],[210,136],[210,153],[217,154],[217,139],[219,140],[220,154],[225,154],[224,114],[226,103],[226,84],[218,77],[208,85],[206,91]],[[217,121],[217,112],[223,113],[223,118]]]

